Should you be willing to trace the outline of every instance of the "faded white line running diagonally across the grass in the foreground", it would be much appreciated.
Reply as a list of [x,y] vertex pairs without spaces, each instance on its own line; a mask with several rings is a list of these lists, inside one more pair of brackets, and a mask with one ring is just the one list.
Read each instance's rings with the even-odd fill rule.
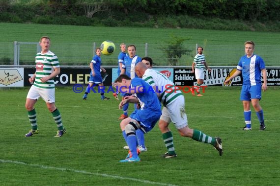
[[26,166],[35,166],[35,167],[44,168],[44,169],[55,169],[55,170],[60,170],[60,171],[71,171],[71,172],[77,172],[77,173],[82,173],[82,174],[89,174],[89,175],[95,175],[95,176],[103,176],[103,177],[115,178],[115,179],[119,179],[119,180],[131,180],[131,181],[141,182],[141,183],[151,184],[151,185],[177,186],[177,185],[172,185],[172,184],[152,182],[152,181],[149,181],[149,180],[140,180],[140,179],[136,179],[136,178],[113,176],[113,175],[109,175],[109,174],[93,173],[93,172],[87,172],[87,171],[84,171],[84,170],[75,170],[75,169],[60,168],[60,167],[54,167],[54,166],[45,166],[45,165],[39,165],[39,164],[28,164],[28,163],[24,163],[24,162],[11,161],[11,160],[2,160],[2,159],[0,159],[0,162],[1,163],[12,163],[12,164],[22,164],[22,165],[26,165]]

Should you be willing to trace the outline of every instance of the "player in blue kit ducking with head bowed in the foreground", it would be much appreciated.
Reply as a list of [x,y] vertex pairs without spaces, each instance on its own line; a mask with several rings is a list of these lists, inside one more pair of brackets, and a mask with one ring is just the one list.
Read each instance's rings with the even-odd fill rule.
[[136,97],[129,96],[122,100],[119,108],[128,102],[141,103],[140,110],[131,115],[130,121],[125,126],[126,141],[131,153],[120,162],[140,162],[137,153],[136,131],[141,130],[143,133],[147,133],[155,126],[161,116],[161,104],[153,88],[140,78],[131,79],[126,74],[121,74],[115,82],[113,86],[122,87],[122,92],[136,94]]

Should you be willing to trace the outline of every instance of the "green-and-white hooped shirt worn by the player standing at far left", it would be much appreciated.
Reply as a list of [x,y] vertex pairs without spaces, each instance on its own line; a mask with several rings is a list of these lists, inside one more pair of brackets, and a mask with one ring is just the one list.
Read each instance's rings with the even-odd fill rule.
[[54,79],[49,79],[45,83],[41,82],[40,79],[42,77],[46,77],[50,75],[54,71],[54,68],[59,67],[57,56],[50,50],[44,54],[39,52],[36,54],[35,63],[36,63],[36,76],[33,85],[43,89],[54,89],[55,88]]

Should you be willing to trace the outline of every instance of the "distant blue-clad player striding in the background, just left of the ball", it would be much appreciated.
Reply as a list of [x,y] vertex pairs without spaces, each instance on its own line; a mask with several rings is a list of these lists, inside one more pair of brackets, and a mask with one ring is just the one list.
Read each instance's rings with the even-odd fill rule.
[[[93,56],[91,62],[90,62],[90,77],[89,77],[89,84],[85,90],[83,99],[87,98],[87,94],[90,92],[91,87],[94,84],[98,84],[99,86],[103,86],[103,81],[102,81],[102,76],[100,73],[100,70],[102,70],[103,72],[106,72],[106,70],[101,67],[102,61],[101,61],[101,49],[100,48],[96,48],[95,49],[95,56]],[[108,100],[110,99],[109,97],[105,97],[104,92],[100,93],[101,94],[101,99],[102,100]]]

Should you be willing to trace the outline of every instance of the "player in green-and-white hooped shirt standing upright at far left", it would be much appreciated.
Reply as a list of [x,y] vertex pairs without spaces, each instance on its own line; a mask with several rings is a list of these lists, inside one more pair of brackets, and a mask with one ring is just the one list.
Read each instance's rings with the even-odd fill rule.
[[27,94],[25,107],[28,111],[28,118],[32,129],[25,135],[26,137],[31,137],[33,134],[38,134],[34,105],[39,97],[44,99],[56,122],[58,131],[55,137],[61,137],[64,133],[66,133],[66,129],[62,124],[60,113],[55,105],[54,78],[60,73],[60,68],[57,56],[49,50],[50,42],[51,40],[49,37],[41,37],[40,46],[42,51],[36,54],[36,71],[33,76],[29,78],[29,82],[33,85]]

